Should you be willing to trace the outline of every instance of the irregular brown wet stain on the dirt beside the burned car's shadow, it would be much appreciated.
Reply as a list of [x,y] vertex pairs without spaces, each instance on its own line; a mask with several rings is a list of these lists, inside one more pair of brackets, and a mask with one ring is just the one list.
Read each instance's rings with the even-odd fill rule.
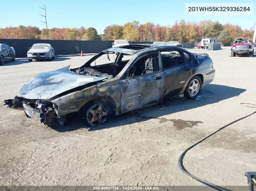
[[182,119],[166,119],[164,117],[147,117],[147,116],[139,116],[141,119],[159,119],[159,123],[165,123],[167,121],[173,122],[173,126],[178,129],[182,130],[185,128],[191,128],[194,126],[198,126],[199,123],[203,123],[202,121],[187,121]]

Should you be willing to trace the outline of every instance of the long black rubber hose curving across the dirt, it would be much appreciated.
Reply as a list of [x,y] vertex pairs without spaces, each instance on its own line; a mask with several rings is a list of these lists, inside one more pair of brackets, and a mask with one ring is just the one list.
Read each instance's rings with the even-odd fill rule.
[[[251,104],[251,103],[240,103],[240,104],[241,104],[242,106],[244,106],[243,104],[253,105],[253,106],[244,106],[244,107],[256,107],[256,105]],[[204,138],[200,139],[198,142],[196,142],[196,143],[194,143],[193,145],[191,145],[190,147],[188,147],[188,148],[181,154],[181,156],[180,156],[180,158],[179,158],[179,161],[178,161],[178,166],[179,166],[179,168],[180,168],[185,174],[187,174],[188,176],[194,178],[195,180],[198,180],[199,182],[201,182],[201,183],[203,183],[203,184],[205,184],[205,185],[207,185],[207,186],[210,186],[210,187],[212,187],[212,188],[214,188],[214,189],[217,189],[217,190],[231,191],[230,189],[227,189],[227,188],[224,188],[224,187],[215,185],[215,184],[213,184],[213,183],[207,182],[207,181],[205,181],[205,180],[203,180],[203,179],[201,179],[201,178],[198,178],[198,177],[192,175],[191,173],[189,173],[189,172],[185,169],[185,167],[183,166],[183,158],[184,158],[185,154],[186,154],[191,148],[193,148],[194,146],[198,145],[199,143],[201,143],[202,141],[204,141],[205,139],[207,139],[207,138],[210,137],[211,135],[215,134],[216,132],[220,131],[221,129],[224,129],[224,128],[227,127],[227,126],[230,126],[230,125],[233,124],[233,123],[236,123],[236,122],[238,122],[238,121],[240,121],[240,120],[242,120],[242,119],[244,119],[244,118],[246,118],[246,117],[249,117],[249,116],[253,115],[254,113],[256,113],[256,111],[254,111],[253,113],[251,113],[251,114],[249,114],[249,115],[247,115],[247,116],[244,116],[244,117],[241,117],[241,118],[239,118],[239,119],[236,119],[236,120],[232,121],[231,123],[228,123],[228,124],[225,125],[225,126],[222,126],[221,128],[219,128],[219,129],[217,129],[216,131],[210,133],[209,135],[205,136]]]

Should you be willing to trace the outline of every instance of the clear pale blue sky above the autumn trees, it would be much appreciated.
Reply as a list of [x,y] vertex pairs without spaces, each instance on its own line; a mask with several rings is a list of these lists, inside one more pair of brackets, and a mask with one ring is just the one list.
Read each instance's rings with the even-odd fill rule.
[[[10,2],[12,2],[10,4]],[[1,2],[0,27],[8,26],[37,26],[46,28],[44,10],[38,8],[46,5],[48,28],[69,27],[85,28],[94,27],[98,33],[103,33],[106,26],[111,24],[125,24],[137,20],[144,24],[152,22],[167,26],[173,25],[181,18],[185,21],[199,22],[204,19],[219,21],[221,24],[238,24],[242,29],[250,29],[256,21],[254,16],[185,16],[185,3],[212,3],[213,1],[189,1],[189,0],[3,0]],[[241,3],[241,0],[214,1],[214,3]],[[244,3],[254,3],[249,0]],[[255,3],[254,3],[255,5]]]

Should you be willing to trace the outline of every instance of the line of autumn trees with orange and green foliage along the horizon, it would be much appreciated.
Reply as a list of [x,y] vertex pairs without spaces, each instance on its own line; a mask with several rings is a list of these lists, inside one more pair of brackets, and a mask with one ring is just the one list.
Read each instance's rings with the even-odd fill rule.
[[[255,23],[254,23],[255,26]],[[128,22],[124,25],[113,24],[105,27],[104,33],[98,34],[93,27],[85,28],[45,28],[20,25],[18,27],[0,28],[2,39],[48,39],[48,40],[117,40],[128,41],[165,41],[198,43],[201,41],[203,27],[204,38],[216,38],[223,46],[229,46],[235,38],[253,38],[254,26],[242,30],[239,25],[221,24],[218,21],[204,20],[199,23],[176,21],[173,25],[160,26],[147,22]]]

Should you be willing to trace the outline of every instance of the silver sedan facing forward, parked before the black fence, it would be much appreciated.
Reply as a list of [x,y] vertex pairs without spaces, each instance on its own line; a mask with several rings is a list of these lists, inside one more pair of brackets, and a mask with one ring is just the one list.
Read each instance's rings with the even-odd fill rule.
[[50,44],[38,43],[33,44],[31,48],[28,48],[28,61],[32,59],[49,59],[52,60],[55,58],[54,49]]

